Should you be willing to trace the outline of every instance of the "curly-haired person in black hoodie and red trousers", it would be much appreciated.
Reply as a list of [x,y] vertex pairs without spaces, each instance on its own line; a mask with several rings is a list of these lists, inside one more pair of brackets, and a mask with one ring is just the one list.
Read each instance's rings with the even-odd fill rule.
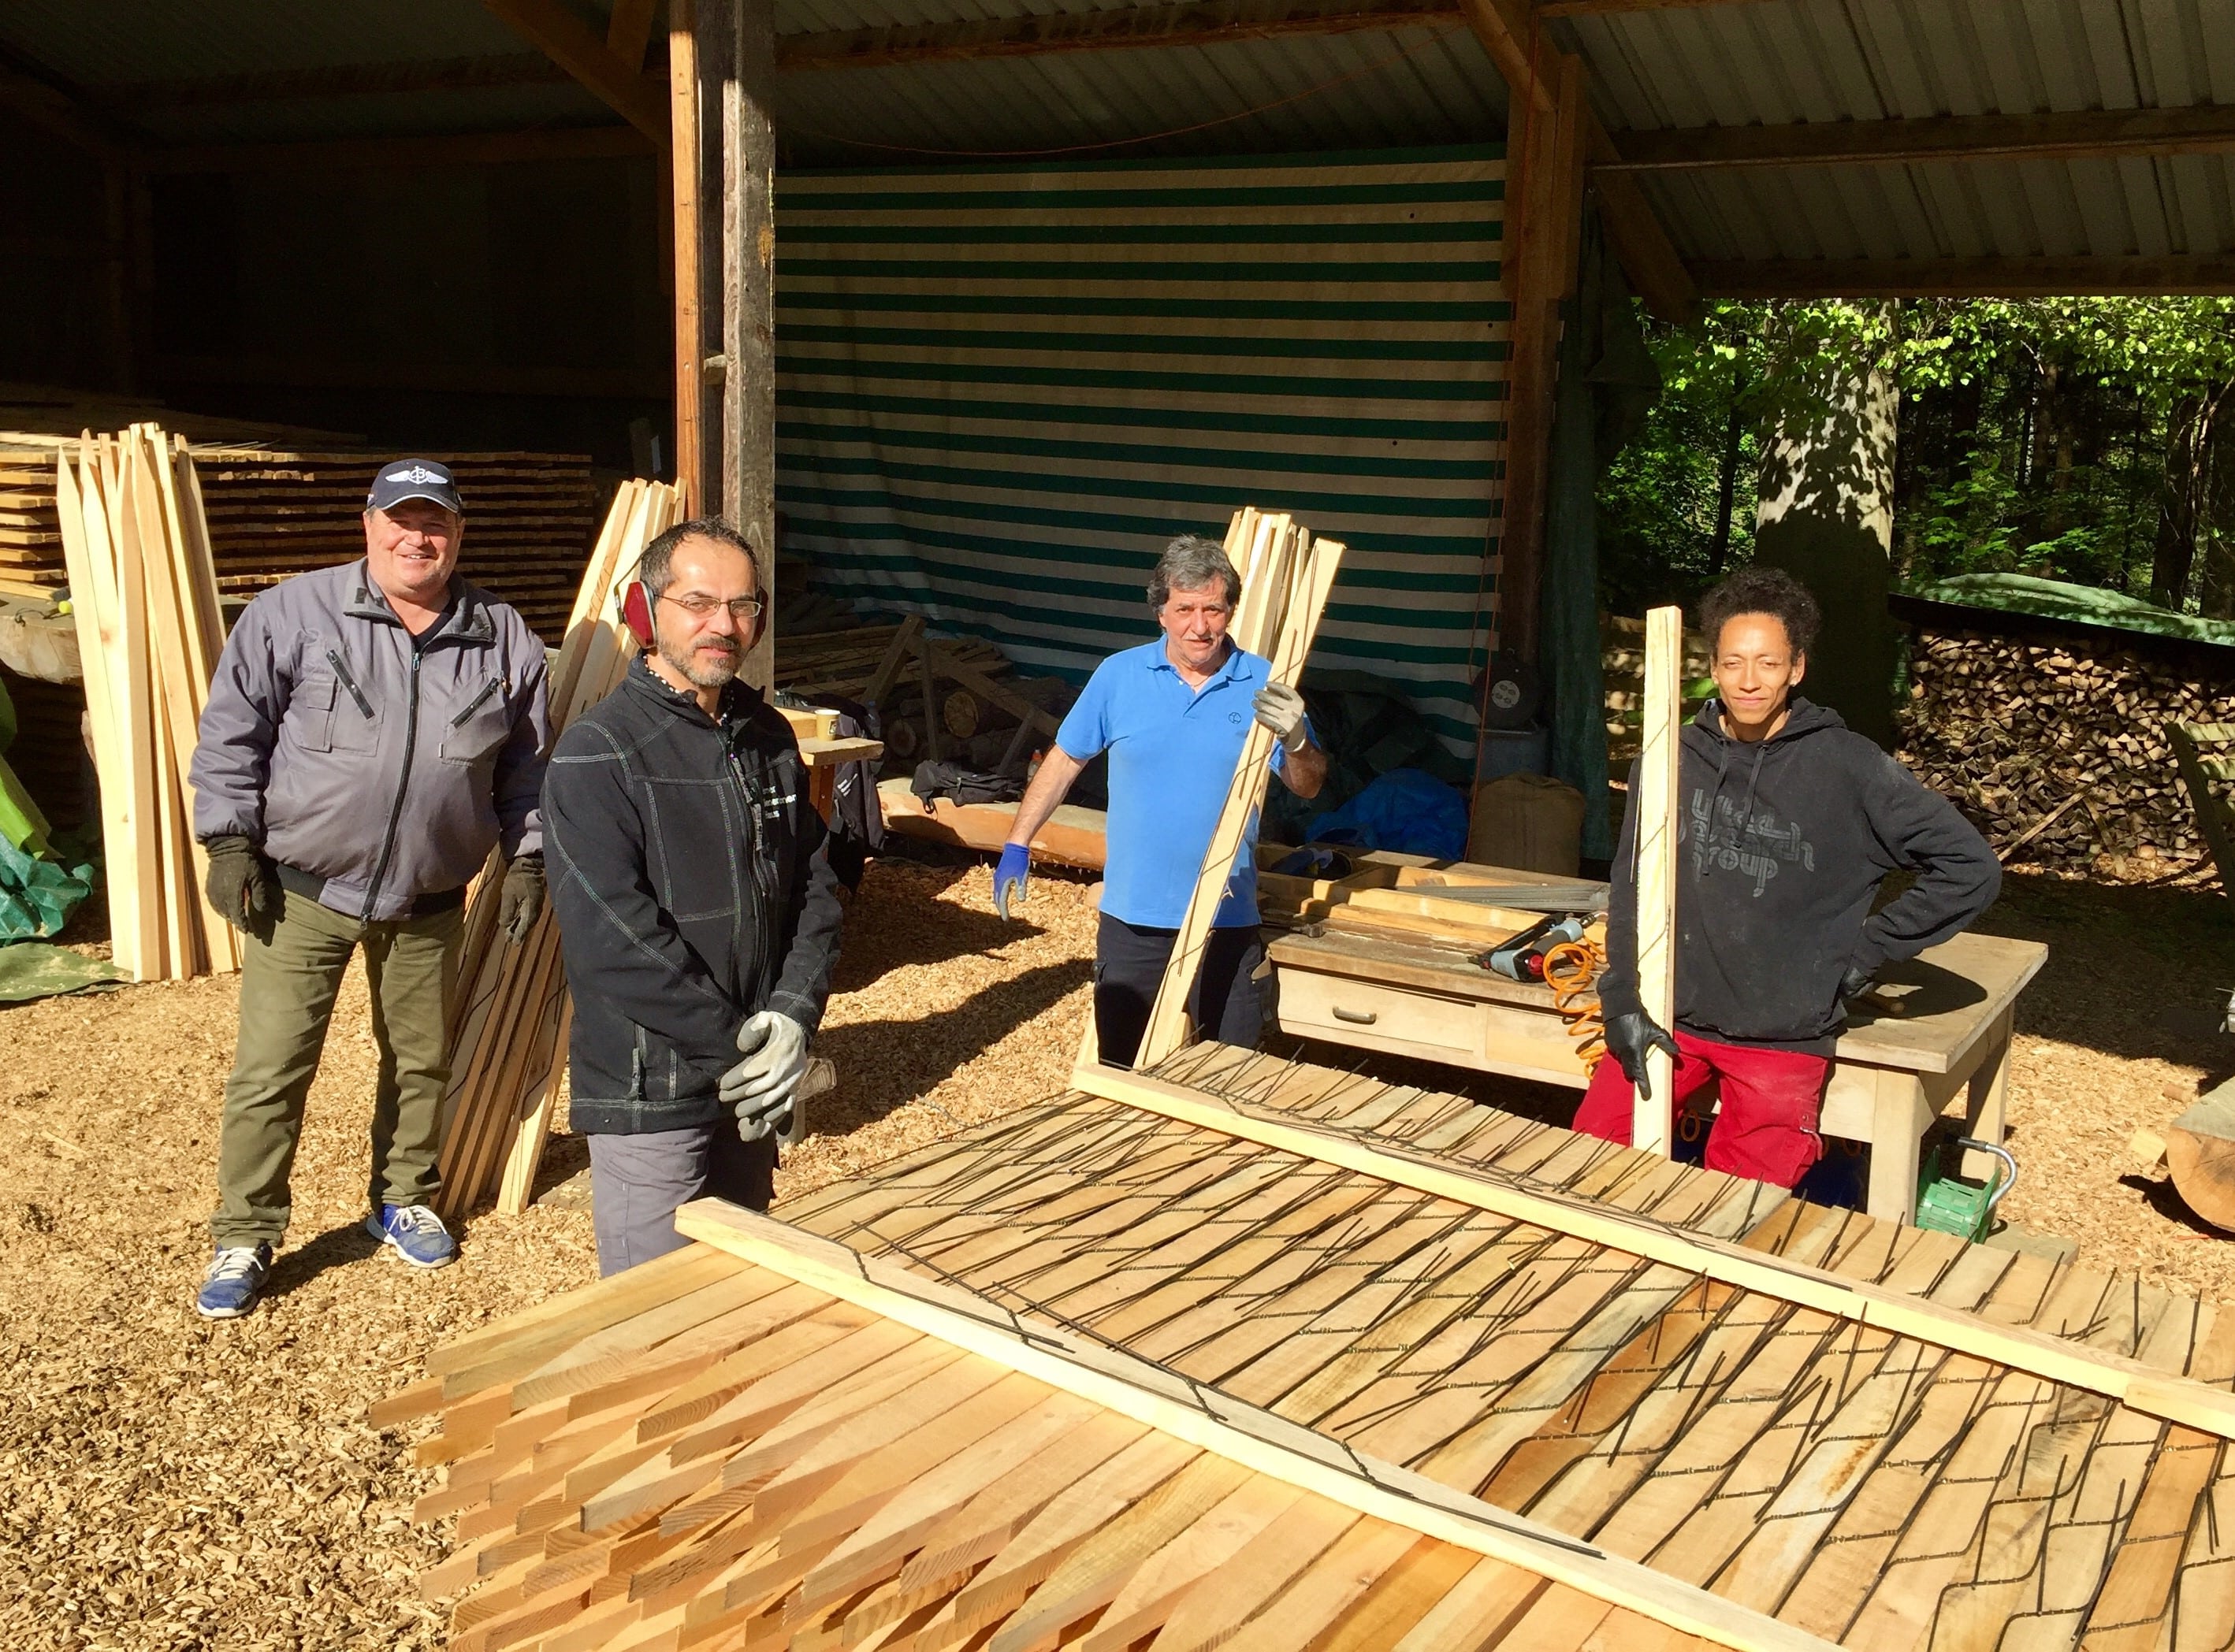
[[[1947,941],[2003,883],[1987,841],[1835,711],[1792,691],[1817,604],[1786,572],[1746,568],[1699,613],[1714,700],[1678,740],[1676,1026],[1638,1001],[1636,818],[1623,820],[1600,1008],[1607,1053],[1576,1129],[1629,1140],[1645,1051],[1674,1060],[1683,1107],[1721,1082],[1708,1167],[1792,1187],[1824,1156],[1817,1113],[1846,1004],[1880,966]],[[1632,769],[1636,796],[1636,769]],[[1893,870],[1915,883],[1882,912]]]

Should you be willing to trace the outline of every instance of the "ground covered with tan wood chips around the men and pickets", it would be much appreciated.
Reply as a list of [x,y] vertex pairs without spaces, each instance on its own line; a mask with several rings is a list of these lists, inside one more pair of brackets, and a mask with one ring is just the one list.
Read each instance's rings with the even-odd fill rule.
[[[840,1089],[780,1196],[827,1185],[1048,1095],[1077,1048],[1093,948],[1082,883],[1039,876],[1028,925],[990,876],[885,863],[847,923],[818,1051]],[[2235,921],[2217,892],[2012,876],[1982,928],[2052,946],[2018,1010],[2016,1221],[2081,1241],[2096,1268],[2235,1297],[2235,1247],[2197,1234],[2125,1138],[2235,1069],[2217,1008]],[[434,1648],[440,1607],[409,1578],[445,1531],[413,1531],[431,1475],[418,1428],[364,1406],[427,1348],[595,1274],[588,1205],[565,1189],[483,1216],[465,1259],[411,1274],[373,1254],[364,1118],[373,1046],[353,975],[311,1098],[295,1227],[273,1301],[206,1326],[230,977],[0,1010],[0,1645],[69,1652]],[[1332,1053],[1319,1046],[1319,1060]],[[1397,1064],[1392,1064],[1397,1066]],[[1395,1075],[1395,1073],[1392,1073]],[[1564,1120],[1573,1093],[1419,1077]],[[559,1142],[548,1180],[583,1162]]]

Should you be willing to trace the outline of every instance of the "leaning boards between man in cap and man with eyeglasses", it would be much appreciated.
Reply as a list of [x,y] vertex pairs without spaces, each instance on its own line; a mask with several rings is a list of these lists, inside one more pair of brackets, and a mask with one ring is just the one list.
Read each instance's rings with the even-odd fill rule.
[[[626,481],[615,494],[550,675],[554,735],[603,700],[637,657],[619,592],[644,548],[677,521],[682,494],[668,483]],[[496,928],[501,894],[503,867],[492,854],[467,908],[449,1024],[440,1156],[440,1209],[449,1218],[492,1191],[505,1212],[527,1207],[565,1062],[570,1006],[559,928],[545,910],[521,946],[507,943]]]

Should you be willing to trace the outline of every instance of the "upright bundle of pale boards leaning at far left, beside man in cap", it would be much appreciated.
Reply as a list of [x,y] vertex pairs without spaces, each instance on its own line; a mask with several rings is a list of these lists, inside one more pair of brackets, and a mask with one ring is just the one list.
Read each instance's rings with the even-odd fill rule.
[[183,443],[156,425],[47,456],[101,780],[110,937],[134,981],[237,970],[239,934],[201,899],[201,709],[226,630]]

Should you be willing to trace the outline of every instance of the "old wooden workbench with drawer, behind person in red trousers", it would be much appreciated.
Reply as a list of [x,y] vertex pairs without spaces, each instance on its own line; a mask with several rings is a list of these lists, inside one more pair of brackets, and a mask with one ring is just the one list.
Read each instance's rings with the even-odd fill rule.
[[[1462,948],[1325,930],[1278,937],[1269,955],[1285,1033],[1587,1082],[1551,990],[1495,977]],[[2012,1006],[2047,955],[2038,941],[1958,934],[1880,972],[1880,1001],[1857,1006],[1824,1093],[1824,1133],[1871,1145],[1873,1216],[1915,1218],[1920,1142],[1958,1095],[1965,1133],[2003,1140]]]

